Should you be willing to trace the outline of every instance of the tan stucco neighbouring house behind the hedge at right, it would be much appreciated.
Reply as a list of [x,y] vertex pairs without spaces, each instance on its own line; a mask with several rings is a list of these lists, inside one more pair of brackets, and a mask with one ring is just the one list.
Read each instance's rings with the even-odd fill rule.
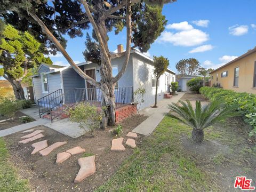
[[211,85],[256,94],[256,47],[212,71]]

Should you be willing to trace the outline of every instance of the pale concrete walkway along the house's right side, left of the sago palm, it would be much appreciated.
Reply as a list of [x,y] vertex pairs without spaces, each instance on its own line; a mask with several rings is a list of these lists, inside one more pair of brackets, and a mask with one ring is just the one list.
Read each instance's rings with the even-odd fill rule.
[[173,96],[171,99],[163,99],[157,102],[157,108],[145,108],[140,111],[141,115],[149,116],[145,121],[139,124],[132,132],[150,135],[155,129],[156,126],[162,121],[166,113],[170,111],[168,109],[168,104],[172,102],[176,103],[179,99],[185,94],[185,92],[179,92],[178,95]]

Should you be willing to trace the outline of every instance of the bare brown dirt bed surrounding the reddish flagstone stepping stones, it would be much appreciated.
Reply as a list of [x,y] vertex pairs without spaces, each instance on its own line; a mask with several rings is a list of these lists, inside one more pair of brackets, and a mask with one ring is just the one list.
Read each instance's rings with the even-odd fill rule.
[[[134,129],[146,116],[135,115],[129,119],[125,119],[121,123],[123,126],[124,142],[127,132]],[[35,191],[92,191],[97,186],[105,182],[118,169],[122,162],[132,154],[133,149],[125,146],[126,150],[122,152],[110,151],[111,140],[115,135],[110,132],[114,127],[108,127],[106,130],[99,130],[95,133],[95,137],[83,135],[82,137],[72,139],[50,128],[41,126],[36,129],[44,130],[44,138],[36,141],[47,139],[48,145],[57,141],[67,141],[51,154],[41,157],[38,153],[30,155],[33,148],[30,142],[25,145],[18,144],[20,137],[25,133],[15,133],[5,137],[7,148],[11,154],[10,161],[15,167],[18,167],[21,178],[28,179],[31,187]],[[142,136],[136,139],[137,145],[140,144]],[[71,156],[60,165],[55,164],[56,155],[64,150],[81,146],[86,151],[84,154]],[[74,183],[74,179],[79,170],[78,158],[83,156],[96,155],[95,164],[96,172],[81,183]]]

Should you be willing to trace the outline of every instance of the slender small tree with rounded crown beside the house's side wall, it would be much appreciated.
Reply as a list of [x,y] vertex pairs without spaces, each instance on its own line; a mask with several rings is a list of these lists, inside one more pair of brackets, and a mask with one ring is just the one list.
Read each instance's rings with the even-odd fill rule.
[[156,94],[155,94],[154,107],[157,107],[157,88],[158,88],[157,85],[158,85],[159,77],[164,74],[168,66],[169,66],[169,60],[167,58],[164,58],[163,56],[160,56],[160,57],[154,56],[154,74],[156,77]]

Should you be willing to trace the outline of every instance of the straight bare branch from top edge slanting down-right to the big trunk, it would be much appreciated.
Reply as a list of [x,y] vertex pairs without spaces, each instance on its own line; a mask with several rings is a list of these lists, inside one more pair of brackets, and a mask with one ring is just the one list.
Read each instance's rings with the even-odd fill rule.
[[91,24],[92,24],[92,26],[93,26],[94,32],[95,32],[95,34],[96,34],[96,36],[97,36],[97,39],[98,39],[98,42],[99,42],[99,45],[100,45],[100,50],[101,50],[101,52],[102,52],[102,55],[103,55],[103,57],[105,58],[105,60],[107,61],[107,63],[108,63],[109,65],[111,65],[110,60],[109,60],[109,58],[108,58],[108,53],[107,53],[107,51],[106,51],[106,49],[105,49],[105,46],[104,46],[104,44],[103,44],[103,40],[102,40],[101,35],[100,35],[99,28],[98,28],[98,26],[96,25],[96,23],[95,23],[95,21],[94,21],[94,19],[93,19],[93,17],[92,17],[92,14],[91,14],[91,12],[90,12],[90,10],[89,10],[89,5],[87,4],[86,0],[80,0],[80,1],[81,1],[81,3],[84,5],[84,9],[85,9],[85,12],[86,12],[86,14],[87,14],[87,17],[88,17],[88,19],[90,20],[90,22],[91,22]]

